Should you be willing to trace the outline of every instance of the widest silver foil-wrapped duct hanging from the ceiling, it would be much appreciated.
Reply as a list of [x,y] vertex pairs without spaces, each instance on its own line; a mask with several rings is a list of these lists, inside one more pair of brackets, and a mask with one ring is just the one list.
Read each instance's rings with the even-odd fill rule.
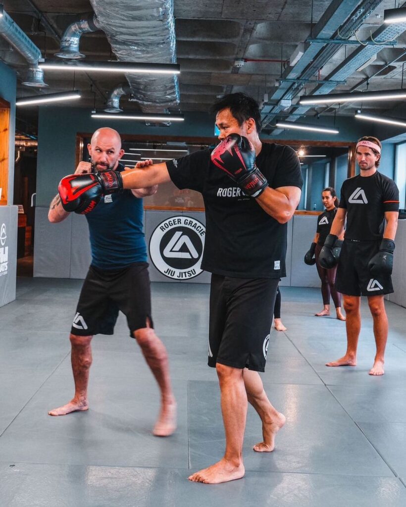
[[[176,63],[173,0],[90,0],[119,61]],[[144,113],[162,113],[179,103],[174,75],[126,74]]]

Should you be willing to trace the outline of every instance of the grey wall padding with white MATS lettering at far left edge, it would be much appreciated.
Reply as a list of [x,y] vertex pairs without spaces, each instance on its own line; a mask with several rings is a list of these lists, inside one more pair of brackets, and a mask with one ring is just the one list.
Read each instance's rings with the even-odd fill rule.
[[[16,299],[18,206],[0,206],[0,248],[3,248],[0,271],[0,306]],[[6,247],[8,248],[7,258]],[[7,264],[6,264],[7,262]],[[7,267],[7,269],[6,269]]]

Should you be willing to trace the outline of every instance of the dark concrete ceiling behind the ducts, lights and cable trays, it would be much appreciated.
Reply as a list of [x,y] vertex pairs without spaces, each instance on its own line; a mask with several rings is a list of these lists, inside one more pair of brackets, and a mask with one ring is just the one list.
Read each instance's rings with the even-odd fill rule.
[[[114,4],[115,0],[110,3]],[[207,112],[217,96],[236,91],[252,95],[262,106],[268,107],[267,111],[272,111],[274,104],[278,103],[274,99],[278,91],[275,84],[288,72],[289,57],[298,44],[312,35],[314,37],[316,24],[320,20],[320,23],[323,22],[322,17],[332,3],[338,2],[314,0],[312,12],[312,0],[174,0],[176,54],[181,74],[179,107],[172,107],[171,111]],[[342,0],[342,3],[345,4],[346,0]],[[384,9],[395,6],[394,0],[383,0],[377,4],[378,7],[356,30],[356,37],[360,41],[368,39],[371,32],[376,33],[383,23]],[[58,38],[65,28],[79,16],[92,12],[89,0],[4,0],[4,8],[48,58],[58,51]],[[348,16],[352,11],[348,11]],[[350,34],[349,40],[356,40],[354,33]],[[377,48],[376,59],[360,70],[354,70],[346,77],[345,84],[337,85],[334,91],[349,91],[356,87],[357,91],[362,91],[367,86],[368,90],[399,89],[402,64],[406,61],[406,33],[400,33],[396,41],[395,47]],[[319,46],[322,49],[323,46]],[[294,105],[300,95],[312,93],[316,88],[316,83],[311,81],[333,79],[328,77],[358,48],[358,45],[337,45],[337,51],[317,69],[310,81],[297,87],[291,107],[286,110],[279,108],[278,117],[294,114]],[[115,59],[101,30],[82,35],[80,49],[89,60]],[[402,56],[391,63],[399,55]],[[1,37],[0,59],[14,67],[20,78],[24,77],[25,60],[11,50]],[[237,67],[236,60],[243,60],[243,65]],[[366,83],[368,78],[369,82]],[[17,95],[52,93],[73,88],[71,73],[63,71],[46,72],[45,81],[49,88],[39,91],[22,86],[20,79]],[[93,108],[95,100],[96,108],[102,110],[107,94],[123,81],[124,76],[119,75],[76,73],[75,86],[84,93],[76,105]],[[264,103],[265,93],[268,94],[268,101]],[[124,111],[130,113],[139,110],[137,103],[128,98],[124,96],[120,102]],[[392,116],[399,117],[403,115],[402,105],[403,102],[374,102],[368,104],[368,109],[387,115],[393,112]],[[356,108],[359,108],[359,104],[341,106],[338,114],[352,115]],[[333,108],[327,110],[321,106],[317,110],[309,108],[303,115],[333,113]],[[34,113],[27,113],[30,114]],[[275,115],[268,116],[269,128],[272,128],[274,118]],[[294,118],[292,116],[289,119]]]

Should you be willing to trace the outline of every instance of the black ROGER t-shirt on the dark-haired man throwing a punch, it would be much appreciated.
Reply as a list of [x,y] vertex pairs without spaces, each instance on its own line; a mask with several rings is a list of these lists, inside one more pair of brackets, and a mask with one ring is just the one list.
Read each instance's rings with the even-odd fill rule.
[[[179,189],[201,192],[206,210],[202,269],[237,278],[286,276],[287,224],[279,224],[210,160],[210,150],[166,162]],[[263,143],[256,165],[271,188],[302,188],[298,155],[288,146]]]

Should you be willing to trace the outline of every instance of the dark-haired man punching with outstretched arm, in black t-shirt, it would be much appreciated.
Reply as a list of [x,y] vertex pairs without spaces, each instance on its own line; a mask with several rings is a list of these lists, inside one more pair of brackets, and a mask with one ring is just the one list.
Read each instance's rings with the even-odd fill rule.
[[212,273],[208,364],[217,371],[226,431],[224,457],[189,477],[206,484],[244,476],[248,401],[263,425],[263,441],[255,451],[273,451],[275,435],[285,423],[285,416],[269,402],[258,372],[265,368],[270,308],[279,278],[286,276],[287,222],[303,185],[296,152],[261,142],[255,100],[243,93],[229,94],[214,104],[213,112],[222,142],[212,153],[201,150],[121,173],[124,188],[172,180],[179,189],[203,196],[206,235],[201,267]]

